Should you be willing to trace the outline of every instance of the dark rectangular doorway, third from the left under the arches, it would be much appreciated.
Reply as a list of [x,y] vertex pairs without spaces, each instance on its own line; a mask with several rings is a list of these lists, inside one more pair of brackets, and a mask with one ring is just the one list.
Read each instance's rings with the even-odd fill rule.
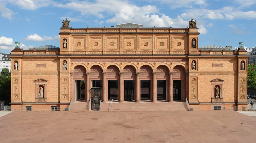
[[118,80],[108,80],[109,100],[118,100]]

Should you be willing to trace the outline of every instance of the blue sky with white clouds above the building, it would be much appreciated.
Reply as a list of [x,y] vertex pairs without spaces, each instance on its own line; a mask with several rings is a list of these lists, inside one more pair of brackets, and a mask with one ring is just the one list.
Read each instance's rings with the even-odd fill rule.
[[28,49],[59,47],[62,20],[70,27],[111,26],[126,22],[143,26],[186,28],[197,20],[199,47],[256,46],[256,0],[0,0],[0,49],[10,53],[14,42]]

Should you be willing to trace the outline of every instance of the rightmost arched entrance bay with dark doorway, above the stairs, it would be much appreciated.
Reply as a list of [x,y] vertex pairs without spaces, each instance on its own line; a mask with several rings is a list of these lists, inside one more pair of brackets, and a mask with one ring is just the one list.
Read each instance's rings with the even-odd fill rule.
[[186,73],[181,65],[177,65],[172,70],[172,98],[173,100],[185,101],[186,97]]

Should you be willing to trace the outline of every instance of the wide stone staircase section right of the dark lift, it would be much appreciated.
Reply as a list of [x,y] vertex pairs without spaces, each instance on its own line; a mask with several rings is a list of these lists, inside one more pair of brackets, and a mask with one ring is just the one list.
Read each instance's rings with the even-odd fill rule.
[[[112,107],[111,107],[112,106]],[[101,103],[100,111],[189,111],[186,102],[106,102]]]

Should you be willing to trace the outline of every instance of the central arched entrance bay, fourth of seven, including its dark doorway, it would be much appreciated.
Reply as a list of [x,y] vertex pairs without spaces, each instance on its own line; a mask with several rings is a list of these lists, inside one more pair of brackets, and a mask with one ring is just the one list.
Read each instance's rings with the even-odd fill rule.
[[124,100],[135,101],[136,93],[136,69],[132,65],[127,65],[123,69],[124,79]]

